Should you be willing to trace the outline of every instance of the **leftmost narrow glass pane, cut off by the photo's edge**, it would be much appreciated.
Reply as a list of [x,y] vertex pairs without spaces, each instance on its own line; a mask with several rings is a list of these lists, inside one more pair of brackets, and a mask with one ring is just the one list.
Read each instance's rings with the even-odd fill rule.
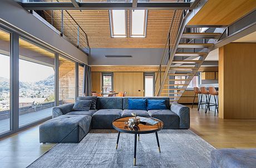
[[0,29],[0,134],[10,130],[10,34]]

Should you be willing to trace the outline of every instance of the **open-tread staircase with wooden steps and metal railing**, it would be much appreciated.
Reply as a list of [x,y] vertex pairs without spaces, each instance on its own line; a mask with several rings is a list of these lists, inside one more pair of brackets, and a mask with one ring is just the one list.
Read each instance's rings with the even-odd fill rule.
[[223,33],[223,28],[214,26],[186,26],[187,17],[183,16],[174,45],[166,47],[155,81],[155,95],[168,96],[170,102],[179,101]]

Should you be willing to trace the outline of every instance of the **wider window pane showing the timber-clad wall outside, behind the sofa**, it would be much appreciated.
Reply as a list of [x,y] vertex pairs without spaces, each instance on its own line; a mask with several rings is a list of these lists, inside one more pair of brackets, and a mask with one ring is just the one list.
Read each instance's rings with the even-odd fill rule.
[[75,102],[76,63],[60,56],[58,71],[60,105]]

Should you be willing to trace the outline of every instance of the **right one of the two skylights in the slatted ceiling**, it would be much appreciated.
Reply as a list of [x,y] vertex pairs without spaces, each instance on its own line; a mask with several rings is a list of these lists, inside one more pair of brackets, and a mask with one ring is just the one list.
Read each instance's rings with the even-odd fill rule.
[[147,10],[132,10],[130,13],[131,37],[146,37]]

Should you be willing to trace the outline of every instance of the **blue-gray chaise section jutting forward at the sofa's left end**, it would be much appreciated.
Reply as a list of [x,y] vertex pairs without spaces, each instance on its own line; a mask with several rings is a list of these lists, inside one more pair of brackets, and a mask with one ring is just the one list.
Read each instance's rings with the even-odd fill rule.
[[62,115],[52,118],[40,125],[40,142],[80,142],[91,129],[91,119],[88,115]]

